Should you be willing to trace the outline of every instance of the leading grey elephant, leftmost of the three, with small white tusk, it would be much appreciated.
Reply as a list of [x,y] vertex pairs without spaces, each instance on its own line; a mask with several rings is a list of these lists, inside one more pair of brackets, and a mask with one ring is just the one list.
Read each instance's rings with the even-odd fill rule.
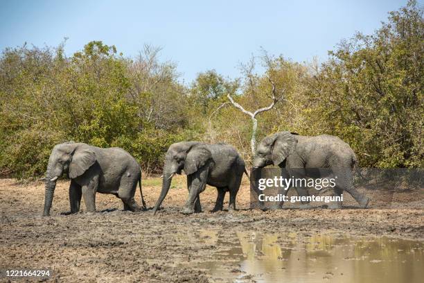
[[46,171],[46,194],[43,216],[50,213],[56,180],[68,173],[71,179],[69,202],[71,212],[80,211],[81,196],[88,212],[96,211],[96,192],[114,194],[121,198],[125,210],[139,211],[134,200],[139,182],[141,192],[141,169],[134,159],[122,148],[98,148],[82,143],[57,144],[51,151]]

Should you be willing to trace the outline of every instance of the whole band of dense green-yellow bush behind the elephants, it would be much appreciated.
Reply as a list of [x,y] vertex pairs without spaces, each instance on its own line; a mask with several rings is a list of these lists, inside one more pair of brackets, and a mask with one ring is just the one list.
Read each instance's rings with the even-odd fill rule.
[[283,101],[258,116],[258,139],[279,130],[332,134],[346,140],[361,166],[422,167],[423,8],[409,1],[373,35],[358,33],[321,65],[267,53],[256,74],[252,59],[242,76],[205,71],[189,86],[177,66],[145,46],[125,58],[115,46],[89,42],[71,57],[56,48],[24,46],[0,56],[0,174],[41,175],[54,144],[81,141],[120,146],[145,171],[160,173],[176,141],[226,141],[251,158],[246,110],[270,105],[272,84]]

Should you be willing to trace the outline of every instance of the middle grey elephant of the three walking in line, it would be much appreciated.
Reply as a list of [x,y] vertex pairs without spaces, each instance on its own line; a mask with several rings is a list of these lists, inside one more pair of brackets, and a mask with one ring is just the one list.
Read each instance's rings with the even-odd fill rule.
[[188,199],[183,214],[202,212],[199,194],[206,184],[218,189],[213,212],[222,210],[224,196],[229,191],[229,210],[236,209],[236,195],[240,187],[245,162],[238,152],[228,144],[204,144],[198,141],[182,141],[171,145],[165,157],[162,190],[154,205],[153,213],[164,200],[174,174],[187,175]]

